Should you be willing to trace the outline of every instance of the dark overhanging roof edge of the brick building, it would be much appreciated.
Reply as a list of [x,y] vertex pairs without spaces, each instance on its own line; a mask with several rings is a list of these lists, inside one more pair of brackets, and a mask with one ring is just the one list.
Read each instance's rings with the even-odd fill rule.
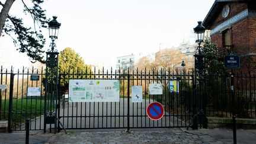
[[206,18],[204,18],[203,25],[204,27],[209,30],[212,24],[214,23],[214,19],[217,17],[219,14],[219,11],[222,11],[224,5],[226,3],[231,3],[231,2],[241,2],[241,3],[248,3],[252,2],[254,0],[216,0],[212,8],[210,8],[210,11],[206,15]]

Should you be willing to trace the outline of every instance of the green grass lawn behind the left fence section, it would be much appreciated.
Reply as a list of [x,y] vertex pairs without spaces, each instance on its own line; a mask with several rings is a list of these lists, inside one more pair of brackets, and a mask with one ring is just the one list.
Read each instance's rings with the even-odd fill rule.
[[[9,100],[2,101],[2,120],[8,120]],[[44,113],[44,97],[14,99],[12,103],[12,123],[16,126],[25,119],[34,119]]]

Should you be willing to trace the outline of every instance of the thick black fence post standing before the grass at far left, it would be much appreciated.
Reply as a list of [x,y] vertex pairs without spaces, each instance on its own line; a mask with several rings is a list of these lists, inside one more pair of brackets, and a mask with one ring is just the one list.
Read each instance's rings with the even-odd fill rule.
[[9,91],[9,113],[8,113],[8,132],[11,133],[11,123],[12,123],[12,98],[13,98],[13,87],[14,87],[14,73],[11,69],[11,79],[10,79],[10,91]]

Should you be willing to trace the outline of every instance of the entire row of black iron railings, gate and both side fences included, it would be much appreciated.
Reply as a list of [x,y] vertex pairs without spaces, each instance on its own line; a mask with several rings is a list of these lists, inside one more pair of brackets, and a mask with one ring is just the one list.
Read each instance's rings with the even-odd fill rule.
[[[31,80],[31,75],[39,76]],[[30,130],[43,130],[44,120],[43,68],[0,69],[0,120],[9,121],[9,131],[25,130],[25,119],[31,120]],[[69,79],[118,79],[119,102],[71,103],[68,101]],[[180,91],[170,92],[169,81],[176,79]],[[232,91],[230,75],[205,75],[207,116],[232,117]],[[255,75],[234,75],[235,111],[237,117],[256,117]],[[162,95],[149,95],[149,84],[163,86]],[[105,129],[139,127],[187,127],[194,115],[194,73],[172,71],[101,71],[94,69],[59,74],[59,109],[57,116],[67,129]],[[5,85],[7,88],[5,88]],[[142,103],[132,103],[132,86],[143,88]],[[40,95],[27,96],[28,88],[40,88]],[[194,90],[194,91],[193,91]],[[66,99],[65,99],[66,95]],[[146,114],[153,101],[164,105],[164,117],[153,121]],[[60,125],[58,125],[60,128]]]

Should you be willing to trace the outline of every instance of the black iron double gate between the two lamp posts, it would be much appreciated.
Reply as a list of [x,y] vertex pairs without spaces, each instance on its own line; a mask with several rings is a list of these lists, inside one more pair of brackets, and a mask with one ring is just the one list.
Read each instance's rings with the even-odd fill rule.
[[[119,102],[68,101],[69,79],[118,79]],[[169,81],[177,80],[180,91],[170,92]],[[187,127],[193,117],[193,73],[163,71],[84,71],[68,69],[59,74],[58,118],[65,129],[127,129],[148,127]],[[149,95],[149,84],[162,84],[162,95]],[[142,103],[132,103],[131,87],[141,85]],[[151,120],[146,108],[153,101],[164,105],[161,120]],[[58,124],[58,129],[62,127]]]

